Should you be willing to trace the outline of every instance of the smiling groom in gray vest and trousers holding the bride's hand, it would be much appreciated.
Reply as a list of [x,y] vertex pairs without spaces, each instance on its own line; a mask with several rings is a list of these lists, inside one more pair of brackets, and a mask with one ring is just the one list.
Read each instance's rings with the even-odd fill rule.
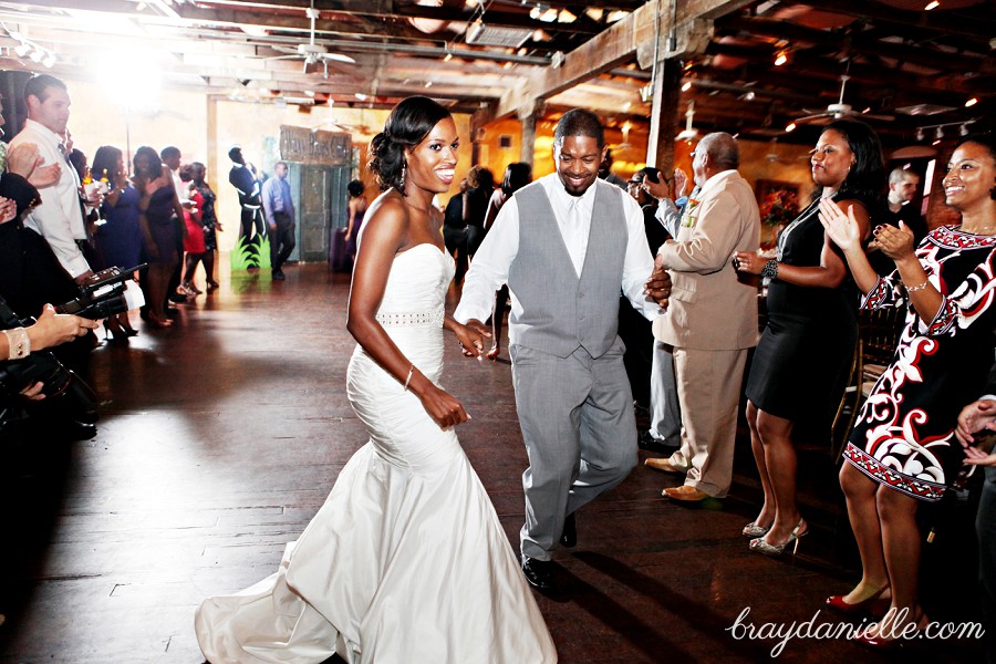
[[636,464],[620,290],[650,320],[671,292],[667,274],[654,272],[640,206],[598,177],[604,157],[598,116],[566,113],[553,133],[557,172],[501,207],[454,313],[484,334],[495,291],[511,291],[509,354],[529,453],[522,571],[542,591],[554,590],[557,542],[575,543],[574,512]]

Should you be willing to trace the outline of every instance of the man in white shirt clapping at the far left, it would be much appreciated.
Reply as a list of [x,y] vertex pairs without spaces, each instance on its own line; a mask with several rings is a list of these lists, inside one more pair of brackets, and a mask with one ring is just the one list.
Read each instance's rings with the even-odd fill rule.
[[42,187],[41,205],[29,212],[25,226],[38,231],[59,259],[60,264],[77,283],[93,273],[83,250],[86,247],[86,226],[80,205],[80,179],[76,169],[66,160],[64,136],[69,122],[70,96],[65,83],[41,74],[24,85],[28,120],[24,128],[10,142],[10,149],[34,144],[44,165],[60,164],[59,180]]

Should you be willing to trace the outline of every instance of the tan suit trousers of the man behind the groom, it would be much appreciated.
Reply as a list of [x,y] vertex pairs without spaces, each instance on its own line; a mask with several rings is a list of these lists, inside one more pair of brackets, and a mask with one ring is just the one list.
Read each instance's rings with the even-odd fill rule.
[[670,463],[687,471],[685,485],[725,498],[733,480],[737,411],[747,349],[674,349],[682,404],[682,447]]

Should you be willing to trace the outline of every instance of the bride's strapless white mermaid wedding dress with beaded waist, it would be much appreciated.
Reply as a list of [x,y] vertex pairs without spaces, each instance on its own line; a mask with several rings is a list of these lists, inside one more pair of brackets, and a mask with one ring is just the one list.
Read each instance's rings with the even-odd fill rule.
[[[377,320],[438,384],[453,261],[433,245],[394,258]],[[360,346],[347,394],[370,432],[273,575],[206,600],[211,664],[547,664],[553,642],[498,516],[453,429]]]

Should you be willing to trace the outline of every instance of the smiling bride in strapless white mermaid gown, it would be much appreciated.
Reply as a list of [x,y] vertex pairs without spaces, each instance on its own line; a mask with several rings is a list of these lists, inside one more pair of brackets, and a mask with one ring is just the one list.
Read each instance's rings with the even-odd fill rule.
[[432,206],[449,189],[456,125],[409,97],[370,146],[386,189],[370,207],[353,272],[347,374],[370,442],[277,573],[206,600],[195,619],[212,664],[547,664],[557,661],[495,508],[453,427],[470,416],[438,386],[453,261]]

